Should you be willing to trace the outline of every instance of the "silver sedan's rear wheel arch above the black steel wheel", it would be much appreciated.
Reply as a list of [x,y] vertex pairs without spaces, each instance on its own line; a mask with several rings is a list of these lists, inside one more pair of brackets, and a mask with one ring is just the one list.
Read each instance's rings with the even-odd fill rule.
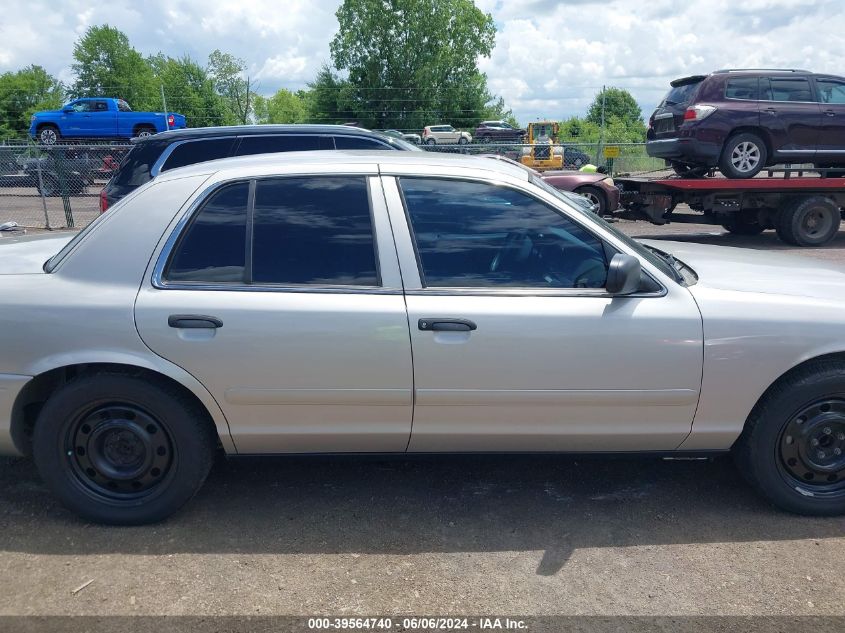
[[193,376],[177,366],[153,366],[142,359],[91,360],[88,362],[58,363],[35,373],[24,385],[12,406],[11,436],[15,448],[22,455],[32,451],[32,431],[41,407],[62,385],[84,372],[101,371],[130,376],[146,376],[167,382],[191,398],[207,415],[220,444],[227,453],[236,453],[234,442],[223,412],[213,396]]

